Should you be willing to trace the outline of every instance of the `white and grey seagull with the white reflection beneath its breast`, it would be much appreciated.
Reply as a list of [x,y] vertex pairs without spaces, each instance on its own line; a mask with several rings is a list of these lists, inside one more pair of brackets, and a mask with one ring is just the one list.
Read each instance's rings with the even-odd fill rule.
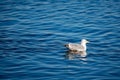
[[80,53],[81,57],[86,57],[87,43],[89,43],[89,41],[82,39],[81,43],[68,43],[65,46],[69,49],[70,52]]

